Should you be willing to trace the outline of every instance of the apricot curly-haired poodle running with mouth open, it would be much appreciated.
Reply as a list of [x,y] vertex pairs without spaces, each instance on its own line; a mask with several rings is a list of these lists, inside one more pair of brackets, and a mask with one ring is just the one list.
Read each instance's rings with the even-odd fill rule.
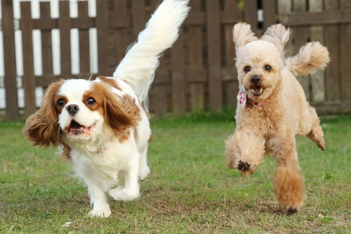
[[316,111],[294,75],[324,69],[329,54],[313,42],[284,61],[290,32],[283,25],[273,25],[258,39],[248,24],[234,26],[239,87],[248,101],[245,108],[237,108],[237,127],[225,142],[225,154],[229,168],[242,175],[251,175],[264,154],[275,155],[274,194],[283,210],[295,212],[305,199],[295,136],[307,136],[322,150],[325,143]]

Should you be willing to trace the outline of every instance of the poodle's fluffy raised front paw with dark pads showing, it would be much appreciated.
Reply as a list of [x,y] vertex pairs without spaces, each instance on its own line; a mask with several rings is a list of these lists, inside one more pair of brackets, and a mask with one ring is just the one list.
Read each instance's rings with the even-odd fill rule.
[[262,136],[236,131],[225,144],[228,167],[238,169],[241,175],[251,175],[263,162],[265,141]]

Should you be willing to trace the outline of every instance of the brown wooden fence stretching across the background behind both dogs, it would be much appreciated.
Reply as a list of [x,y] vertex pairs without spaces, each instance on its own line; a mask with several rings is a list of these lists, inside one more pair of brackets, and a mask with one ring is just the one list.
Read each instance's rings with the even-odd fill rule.
[[[89,78],[89,29],[97,30],[98,74],[112,75],[127,46],[134,42],[159,0],[97,0],[96,17],[88,16],[88,3],[78,2],[78,18],[70,18],[68,1],[60,1],[60,16],[50,18],[50,4],[40,3],[40,19],[32,19],[31,3],[21,3],[25,116],[36,110],[35,87],[46,87],[61,78]],[[245,3],[245,5],[244,5]],[[335,4],[336,3],[336,4]],[[351,78],[348,77],[351,6],[347,0],[192,0],[191,12],[179,40],[160,59],[149,93],[155,115],[199,110],[220,111],[236,106],[238,82],[234,67],[232,28],[237,22],[252,25],[256,35],[282,22],[293,30],[288,54],[308,41],[320,41],[330,51],[326,72],[299,78],[307,98],[318,112],[351,111]],[[20,115],[17,103],[12,1],[2,0],[5,56],[6,114]],[[264,13],[260,21],[260,13]],[[33,30],[41,31],[43,75],[35,76]],[[61,74],[53,75],[52,29],[60,30]],[[79,30],[80,74],[71,71],[71,29]]]

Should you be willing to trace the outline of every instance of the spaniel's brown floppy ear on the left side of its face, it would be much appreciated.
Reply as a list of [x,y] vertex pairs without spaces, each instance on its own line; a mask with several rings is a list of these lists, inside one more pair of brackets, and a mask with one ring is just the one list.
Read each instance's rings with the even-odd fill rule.
[[64,80],[60,80],[51,84],[45,91],[39,110],[27,118],[22,132],[32,145],[48,148],[51,144],[60,144],[54,97],[63,83]]

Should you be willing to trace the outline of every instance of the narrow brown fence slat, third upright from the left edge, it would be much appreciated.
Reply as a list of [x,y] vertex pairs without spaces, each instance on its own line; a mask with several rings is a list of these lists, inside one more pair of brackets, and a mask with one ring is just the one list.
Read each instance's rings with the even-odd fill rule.
[[[50,2],[40,2],[40,18],[50,20]],[[51,29],[41,31],[43,74],[53,73]]]

